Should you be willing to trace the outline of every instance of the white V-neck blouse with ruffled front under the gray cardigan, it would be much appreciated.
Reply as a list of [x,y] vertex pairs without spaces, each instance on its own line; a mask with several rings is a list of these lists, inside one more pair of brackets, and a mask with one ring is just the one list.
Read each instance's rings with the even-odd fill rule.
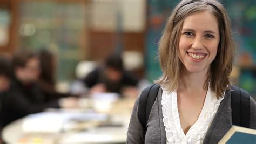
[[211,125],[223,99],[224,97],[217,99],[209,88],[198,120],[185,135],[180,125],[177,93],[176,91],[169,93],[163,90],[161,104],[167,138],[166,143],[203,143],[207,129]]

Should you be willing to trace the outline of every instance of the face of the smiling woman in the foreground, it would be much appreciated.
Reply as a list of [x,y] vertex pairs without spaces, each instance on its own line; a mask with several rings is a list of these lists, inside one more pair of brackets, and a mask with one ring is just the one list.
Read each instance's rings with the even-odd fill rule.
[[179,42],[179,59],[188,73],[207,72],[215,59],[220,42],[218,21],[204,11],[188,16]]

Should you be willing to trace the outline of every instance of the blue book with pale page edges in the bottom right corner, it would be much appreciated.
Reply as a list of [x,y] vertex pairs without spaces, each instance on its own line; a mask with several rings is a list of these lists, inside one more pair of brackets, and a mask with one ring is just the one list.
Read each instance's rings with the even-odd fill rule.
[[256,130],[232,126],[230,130],[223,136],[219,143],[256,143]]

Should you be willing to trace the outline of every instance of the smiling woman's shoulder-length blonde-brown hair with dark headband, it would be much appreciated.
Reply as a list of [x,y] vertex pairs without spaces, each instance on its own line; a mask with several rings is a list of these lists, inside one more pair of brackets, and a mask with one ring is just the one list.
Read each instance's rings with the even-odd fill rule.
[[159,61],[163,75],[156,81],[168,91],[177,90],[181,76],[181,61],[178,58],[179,39],[186,17],[196,12],[208,11],[218,20],[220,42],[217,56],[207,73],[204,88],[210,88],[217,98],[223,95],[230,85],[230,76],[234,55],[234,41],[231,35],[230,19],[222,4],[214,0],[181,1],[167,20],[159,42]]

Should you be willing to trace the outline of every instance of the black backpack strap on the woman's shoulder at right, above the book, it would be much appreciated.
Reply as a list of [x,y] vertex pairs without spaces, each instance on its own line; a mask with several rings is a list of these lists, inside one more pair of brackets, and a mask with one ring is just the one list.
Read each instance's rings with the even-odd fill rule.
[[241,88],[231,86],[231,108],[233,125],[250,126],[250,94]]

